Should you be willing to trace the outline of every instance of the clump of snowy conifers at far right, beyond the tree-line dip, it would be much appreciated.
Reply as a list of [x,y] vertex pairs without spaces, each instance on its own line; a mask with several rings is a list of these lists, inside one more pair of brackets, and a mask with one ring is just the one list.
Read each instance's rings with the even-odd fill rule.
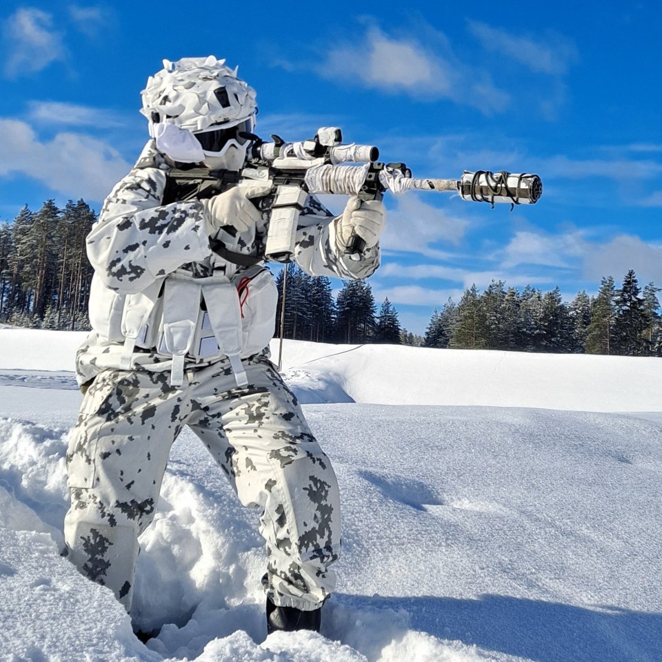
[[459,303],[449,299],[434,310],[423,345],[659,357],[659,291],[654,283],[642,290],[634,270],[621,288],[605,277],[596,296],[583,290],[570,303],[562,301],[558,287],[545,294],[530,286],[519,292],[492,281],[481,293],[473,285]]

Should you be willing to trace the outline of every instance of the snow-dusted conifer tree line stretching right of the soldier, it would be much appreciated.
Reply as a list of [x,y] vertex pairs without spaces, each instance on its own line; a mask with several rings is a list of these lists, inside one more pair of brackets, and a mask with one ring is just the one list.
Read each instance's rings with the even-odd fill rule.
[[[284,272],[277,277],[279,319]],[[425,335],[408,332],[392,303],[377,312],[370,283],[348,281],[334,300],[328,278],[288,271],[285,288],[286,338],[337,343],[396,343],[434,348],[517,350],[575,354],[662,356],[662,320],[654,283],[643,290],[634,270],[621,288],[613,277],[599,292],[585,290],[570,303],[558,287],[541,292],[530,285],[521,292],[492,281],[484,292],[467,288],[432,312]]]

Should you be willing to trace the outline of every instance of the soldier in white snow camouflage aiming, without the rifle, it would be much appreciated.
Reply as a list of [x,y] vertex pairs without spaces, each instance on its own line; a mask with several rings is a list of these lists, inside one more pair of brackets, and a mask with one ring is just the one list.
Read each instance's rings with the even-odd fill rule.
[[[319,631],[340,554],[338,485],[269,360],[277,291],[261,255],[268,212],[252,201],[265,187],[181,201],[168,185],[182,164],[241,170],[255,92],[212,56],[163,64],[142,92],[152,139],[87,238],[92,332],[77,353],[66,553],[130,610],[137,538],[189,425],[239,501],[261,509],[268,632]],[[368,277],[383,224],[381,202],[350,198],[334,217],[309,196],[294,261],[312,275]],[[365,246],[348,259],[354,234]]]

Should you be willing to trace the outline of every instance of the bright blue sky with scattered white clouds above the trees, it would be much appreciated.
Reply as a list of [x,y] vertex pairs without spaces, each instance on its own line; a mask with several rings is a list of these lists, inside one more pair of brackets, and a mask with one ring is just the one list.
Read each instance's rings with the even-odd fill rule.
[[98,210],[148,138],[148,75],[163,58],[214,54],[257,90],[264,137],[340,126],[417,177],[543,179],[539,203],[513,212],[441,193],[385,199],[372,289],[408,330],[492,279],[559,285],[570,300],[632,268],[662,287],[659,1],[227,7],[5,0],[0,220],[50,198]]

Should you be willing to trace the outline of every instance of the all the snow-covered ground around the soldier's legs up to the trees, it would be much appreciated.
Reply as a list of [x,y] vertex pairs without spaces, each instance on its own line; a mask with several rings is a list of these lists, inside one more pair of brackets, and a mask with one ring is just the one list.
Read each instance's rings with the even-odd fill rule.
[[0,659],[662,660],[662,359],[286,342],[344,555],[321,635],[267,637],[258,514],[189,432],[133,623],[59,556],[81,337],[0,329]]

